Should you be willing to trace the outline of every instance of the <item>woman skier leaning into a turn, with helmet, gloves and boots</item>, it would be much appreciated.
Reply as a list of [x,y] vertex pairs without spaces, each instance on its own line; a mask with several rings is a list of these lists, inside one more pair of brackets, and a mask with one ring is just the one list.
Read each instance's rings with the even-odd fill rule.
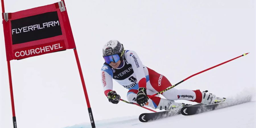
[[164,75],[144,66],[135,51],[125,50],[123,44],[117,40],[107,42],[102,52],[105,60],[101,69],[102,85],[109,102],[113,104],[119,102],[120,95],[113,90],[112,79],[129,90],[127,93],[129,102],[137,102],[140,106],[145,105],[154,109],[170,110],[187,105],[174,102],[174,100],[189,100],[204,104],[214,104],[225,100],[207,93],[208,91],[175,88],[162,93],[166,99],[158,95],[149,99],[148,96],[172,86],[169,80]]

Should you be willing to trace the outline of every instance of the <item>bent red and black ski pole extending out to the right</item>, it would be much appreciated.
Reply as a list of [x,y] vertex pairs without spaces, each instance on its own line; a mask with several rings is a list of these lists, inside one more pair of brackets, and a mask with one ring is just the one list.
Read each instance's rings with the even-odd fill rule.
[[189,78],[191,78],[191,77],[193,77],[193,76],[195,76],[195,75],[198,75],[198,74],[200,74],[200,73],[203,73],[203,72],[205,72],[205,71],[208,71],[208,70],[210,70],[210,69],[213,69],[213,68],[215,68],[215,67],[218,67],[218,66],[223,65],[223,64],[225,64],[225,63],[228,63],[228,62],[230,62],[230,61],[232,61],[232,60],[234,60],[234,59],[237,59],[237,58],[239,58],[239,57],[245,56],[245,55],[247,55],[247,54],[249,54],[249,53],[245,53],[245,54],[240,55],[240,56],[238,56],[238,57],[236,57],[236,58],[230,59],[230,60],[228,60],[228,61],[225,61],[225,62],[223,62],[223,63],[220,63],[220,64],[218,64],[218,65],[215,65],[215,66],[213,66],[213,67],[210,67],[210,68],[208,68],[208,69],[205,69],[205,70],[203,70],[203,71],[201,71],[201,72],[198,72],[198,73],[196,73],[196,74],[194,74],[194,75],[191,75],[191,76],[187,77],[186,79],[181,80],[181,81],[178,82],[177,84],[175,84],[175,85],[173,85],[173,86],[170,86],[170,87],[166,88],[165,90],[162,90],[161,92],[158,92],[158,93],[156,93],[156,94],[154,94],[154,95],[151,95],[151,96],[149,96],[148,98],[152,98],[153,96],[156,96],[156,95],[158,95],[158,94],[160,94],[160,93],[163,93],[163,92],[165,92],[165,91],[167,91],[167,90],[169,90],[169,89],[171,89],[171,88],[173,88],[173,87],[179,85],[180,83],[186,81],[187,79],[189,79]]

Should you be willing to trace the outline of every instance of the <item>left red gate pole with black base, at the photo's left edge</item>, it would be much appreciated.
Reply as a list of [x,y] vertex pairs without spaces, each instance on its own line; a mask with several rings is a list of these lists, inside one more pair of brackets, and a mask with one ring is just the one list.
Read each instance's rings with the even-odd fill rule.
[[[1,0],[1,4],[2,4],[2,13],[4,13],[5,12],[4,0]],[[13,82],[12,82],[10,61],[7,61],[7,68],[8,68],[10,94],[11,94],[11,104],[12,104],[12,113],[13,113],[13,128],[17,128],[16,116],[15,116],[15,107],[14,107],[14,98],[13,98]]]

